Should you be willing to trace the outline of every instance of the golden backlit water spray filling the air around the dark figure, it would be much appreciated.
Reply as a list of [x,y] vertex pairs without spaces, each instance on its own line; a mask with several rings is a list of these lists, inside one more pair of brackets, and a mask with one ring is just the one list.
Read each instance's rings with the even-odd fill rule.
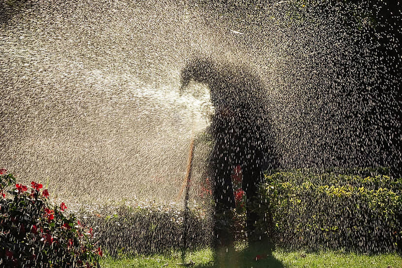
[[[400,39],[370,37],[384,27],[370,4],[3,1],[0,165],[71,204],[184,198],[213,107],[205,85],[180,95],[179,73],[204,55],[261,77],[279,167],[397,173]],[[195,145],[191,201],[210,149]]]

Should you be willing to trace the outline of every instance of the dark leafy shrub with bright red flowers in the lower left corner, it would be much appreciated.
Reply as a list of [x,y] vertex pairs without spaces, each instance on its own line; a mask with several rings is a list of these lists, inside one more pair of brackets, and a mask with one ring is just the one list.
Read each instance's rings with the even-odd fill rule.
[[42,184],[15,183],[0,169],[0,267],[99,267],[99,246],[91,242],[92,229],[82,226],[67,209],[49,204]]

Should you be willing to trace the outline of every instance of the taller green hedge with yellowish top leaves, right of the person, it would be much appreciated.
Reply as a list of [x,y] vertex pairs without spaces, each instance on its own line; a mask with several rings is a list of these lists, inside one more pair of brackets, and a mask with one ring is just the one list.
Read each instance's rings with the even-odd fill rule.
[[290,249],[401,252],[402,180],[351,173],[266,175],[253,202],[258,232]]

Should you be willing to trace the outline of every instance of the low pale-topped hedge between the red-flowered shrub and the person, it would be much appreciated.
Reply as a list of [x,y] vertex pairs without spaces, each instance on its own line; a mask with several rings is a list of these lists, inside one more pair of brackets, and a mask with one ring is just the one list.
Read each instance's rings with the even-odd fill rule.
[[97,240],[104,251],[114,257],[165,253],[184,246],[194,249],[211,243],[209,213],[195,204],[184,210],[183,204],[174,202],[132,200],[88,204],[76,213],[95,226]]

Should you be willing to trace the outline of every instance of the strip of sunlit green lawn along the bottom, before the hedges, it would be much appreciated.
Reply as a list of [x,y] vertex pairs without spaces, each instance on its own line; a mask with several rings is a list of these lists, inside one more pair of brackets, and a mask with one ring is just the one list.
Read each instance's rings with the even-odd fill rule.
[[[256,257],[259,256],[259,260]],[[193,265],[188,265],[190,262]],[[221,248],[213,251],[201,249],[186,254],[180,252],[166,255],[133,256],[114,259],[105,257],[102,268],[402,268],[402,257],[397,254],[358,255],[332,251],[305,253],[275,250],[269,254],[269,247],[258,246],[236,251]]]

